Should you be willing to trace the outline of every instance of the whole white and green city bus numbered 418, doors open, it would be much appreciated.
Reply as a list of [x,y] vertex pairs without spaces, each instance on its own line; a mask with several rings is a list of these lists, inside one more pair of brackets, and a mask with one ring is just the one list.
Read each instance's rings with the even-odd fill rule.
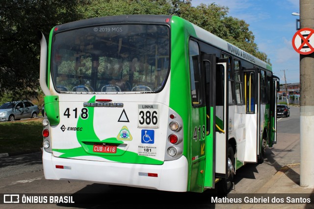
[[268,64],[177,16],[57,25],[48,47],[41,38],[45,178],[228,192],[276,143],[278,83]]

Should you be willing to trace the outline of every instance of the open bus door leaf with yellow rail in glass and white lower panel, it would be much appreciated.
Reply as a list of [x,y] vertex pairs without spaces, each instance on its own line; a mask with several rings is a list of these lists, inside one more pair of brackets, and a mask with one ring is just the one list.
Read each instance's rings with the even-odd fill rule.
[[245,97],[245,155],[244,161],[257,163],[259,154],[259,71],[258,69],[244,70]]

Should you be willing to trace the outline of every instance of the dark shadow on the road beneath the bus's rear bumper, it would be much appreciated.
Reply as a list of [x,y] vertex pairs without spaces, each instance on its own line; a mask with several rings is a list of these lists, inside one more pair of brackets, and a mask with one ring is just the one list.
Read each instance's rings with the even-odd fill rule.
[[57,206],[84,209],[125,209],[126,206],[137,209],[215,208],[210,199],[211,196],[215,195],[207,191],[203,193],[167,192],[128,186],[92,184],[71,194],[71,196],[73,196],[75,204],[57,204]]

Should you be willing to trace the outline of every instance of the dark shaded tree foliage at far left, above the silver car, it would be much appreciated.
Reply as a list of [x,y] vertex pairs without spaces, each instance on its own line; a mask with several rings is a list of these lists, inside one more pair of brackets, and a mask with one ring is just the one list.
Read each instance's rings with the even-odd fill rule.
[[38,96],[41,30],[48,37],[59,23],[81,18],[80,0],[1,0],[0,2],[0,95],[11,100]]

